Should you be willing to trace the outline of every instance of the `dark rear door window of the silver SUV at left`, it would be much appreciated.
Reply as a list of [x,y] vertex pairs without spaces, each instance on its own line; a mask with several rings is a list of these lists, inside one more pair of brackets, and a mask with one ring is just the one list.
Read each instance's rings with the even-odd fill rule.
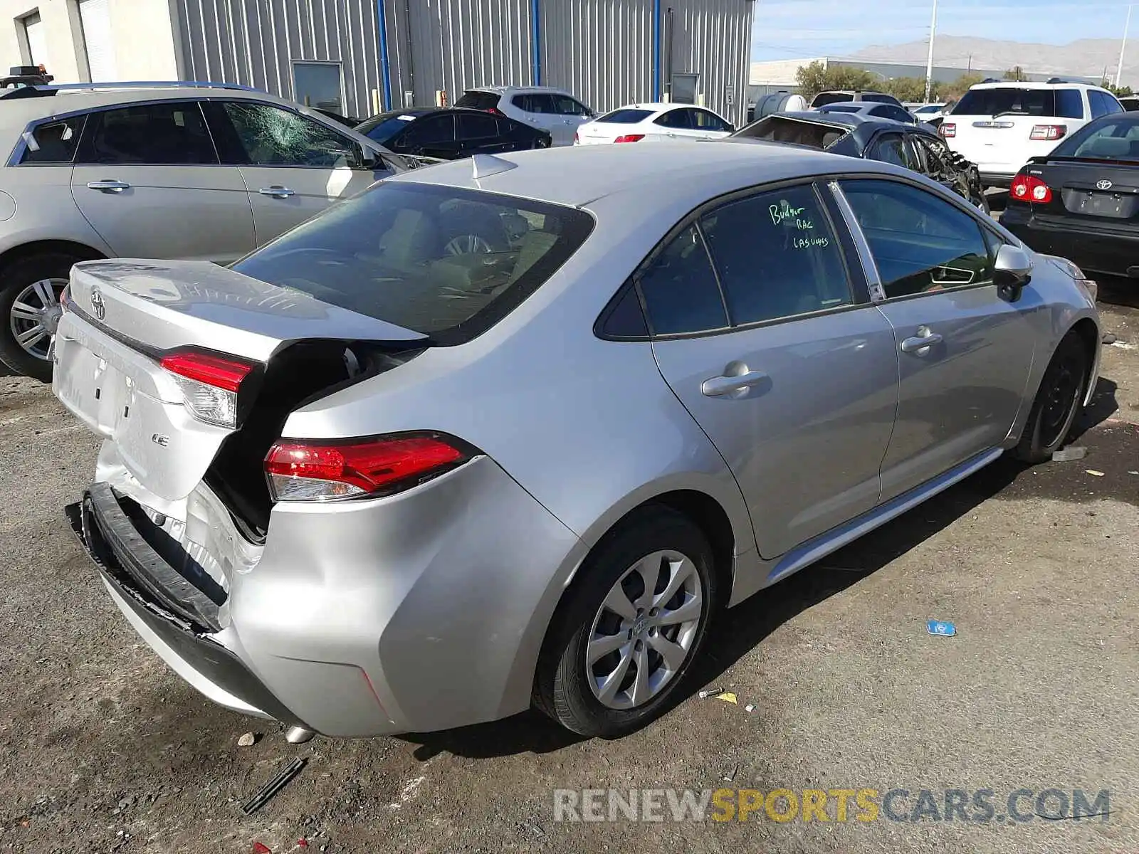
[[90,114],[79,163],[218,163],[197,101],[162,101]]

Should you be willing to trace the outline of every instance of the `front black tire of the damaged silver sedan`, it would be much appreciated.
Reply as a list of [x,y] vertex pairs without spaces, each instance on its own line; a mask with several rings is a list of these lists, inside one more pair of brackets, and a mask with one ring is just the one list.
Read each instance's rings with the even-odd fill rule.
[[1070,331],[1056,347],[1040,380],[1021,443],[1016,446],[1019,459],[1043,462],[1064,446],[1083,408],[1090,367],[1083,340],[1077,332]]

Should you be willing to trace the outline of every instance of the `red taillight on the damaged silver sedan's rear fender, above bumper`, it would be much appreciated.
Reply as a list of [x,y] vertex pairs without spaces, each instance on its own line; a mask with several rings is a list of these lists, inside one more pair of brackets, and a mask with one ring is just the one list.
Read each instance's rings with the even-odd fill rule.
[[458,440],[434,433],[281,440],[265,457],[265,477],[273,501],[339,501],[400,492],[473,455]]

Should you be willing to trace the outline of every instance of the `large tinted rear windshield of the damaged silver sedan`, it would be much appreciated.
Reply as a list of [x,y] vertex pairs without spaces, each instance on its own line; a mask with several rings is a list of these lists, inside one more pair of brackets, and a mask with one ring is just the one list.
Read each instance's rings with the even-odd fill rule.
[[233,270],[462,344],[510,313],[584,243],[583,211],[385,182],[247,255]]

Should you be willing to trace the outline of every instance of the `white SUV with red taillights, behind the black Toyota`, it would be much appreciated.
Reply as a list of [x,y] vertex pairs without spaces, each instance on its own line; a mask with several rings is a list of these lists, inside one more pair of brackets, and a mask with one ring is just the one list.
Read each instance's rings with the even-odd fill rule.
[[1092,118],[1122,112],[1114,95],[1087,83],[978,83],[939,132],[977,164],[985,187],[1009,187],[1031,157],[1047,155]]

